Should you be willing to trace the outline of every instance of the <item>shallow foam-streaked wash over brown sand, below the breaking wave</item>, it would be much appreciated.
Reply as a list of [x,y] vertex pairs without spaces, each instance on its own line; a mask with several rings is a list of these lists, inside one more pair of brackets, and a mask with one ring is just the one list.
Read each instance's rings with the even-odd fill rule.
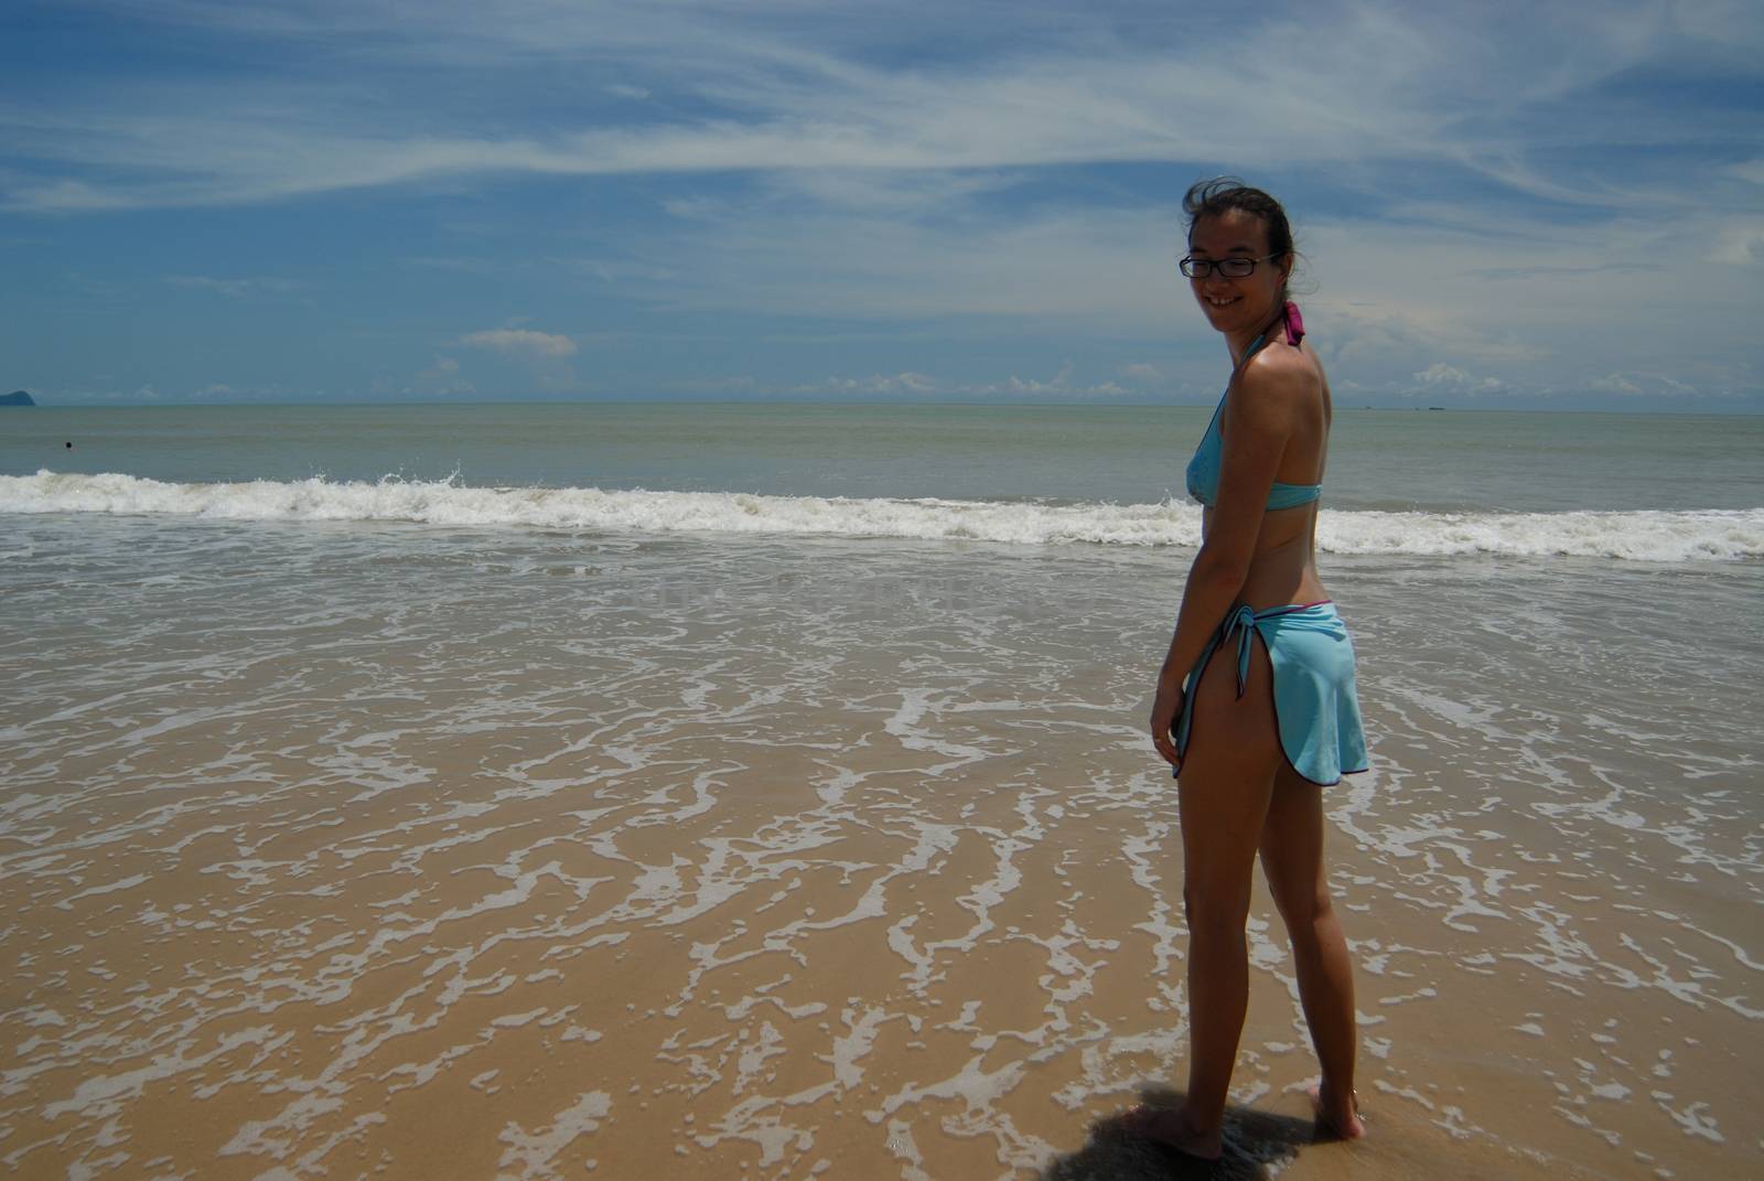
[[[1168,558],[108,517],[5,545],[18,1176],[1055,1176],[1180,1082],[1141,734]],[[1732,1176],[1757,703],[1702,690],[1759,637],[1669,623],[1757,588],[1506,575],[1452,616],[1461,567],[1337,572],[1376,741],[1332,794],[1362,1091],[1526,1160]],[[1660,606],[1612,636],[1602,597]],[[1251,955],[1237,1098],[1302,1110],[1259,902]]]

